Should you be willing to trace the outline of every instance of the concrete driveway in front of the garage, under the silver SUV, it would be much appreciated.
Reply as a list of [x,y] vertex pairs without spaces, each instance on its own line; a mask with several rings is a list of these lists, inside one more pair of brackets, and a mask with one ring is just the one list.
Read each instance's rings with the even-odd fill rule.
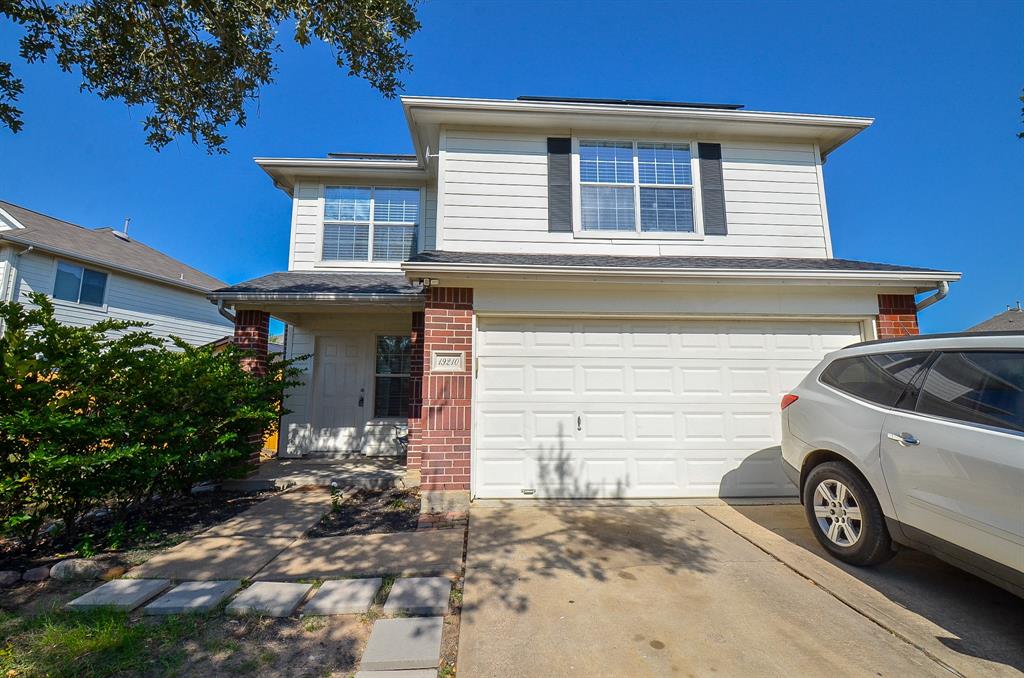
[[840,567],[799,506],[471,510],[460,678],[1022,671],[1024,601],[915,552]]

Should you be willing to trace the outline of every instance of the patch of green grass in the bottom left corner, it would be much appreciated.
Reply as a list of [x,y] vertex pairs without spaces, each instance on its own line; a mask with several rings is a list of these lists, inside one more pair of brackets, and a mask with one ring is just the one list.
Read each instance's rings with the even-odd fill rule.
[[110,676],[139,673],[155,665],[171,670],[178,645],[198,633],[204,618],[168,617],[130,623],[114,609],[54,610],[30,619],[5,613],[0,674],[9,676]]

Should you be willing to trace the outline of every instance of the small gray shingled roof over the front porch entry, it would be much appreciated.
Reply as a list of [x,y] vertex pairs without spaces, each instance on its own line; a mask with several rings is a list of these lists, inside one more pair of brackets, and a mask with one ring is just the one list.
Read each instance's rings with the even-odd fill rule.
[[354,273],[316,270],[288,270],[214,290],[211,297],[238,298],[247,295],[376,295],[415,297],[420,285],[402,273]]

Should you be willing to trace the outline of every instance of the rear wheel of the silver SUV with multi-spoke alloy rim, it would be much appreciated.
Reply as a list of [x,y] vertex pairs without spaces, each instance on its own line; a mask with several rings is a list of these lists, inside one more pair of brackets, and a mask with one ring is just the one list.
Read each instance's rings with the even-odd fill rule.
[[882,507],[852,466],[826,462],[804,482],[804,512],[815,539],[854,565],[877,565],[894,554]]

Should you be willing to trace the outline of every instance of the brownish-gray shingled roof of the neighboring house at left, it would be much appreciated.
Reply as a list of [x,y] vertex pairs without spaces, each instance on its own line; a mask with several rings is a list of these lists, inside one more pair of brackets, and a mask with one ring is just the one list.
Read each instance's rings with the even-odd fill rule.
[[207,276],[137,240],[123,240],[115,236],[112,228],[86,228],[4,201],[0,201],[0,208],[25,226],[0,231],[0,241],[33,245],[40,250],[74,256],[98,265],[105,264],[145,278],[161,279],[172,285],[203,291],[224,286],[223,281]]

